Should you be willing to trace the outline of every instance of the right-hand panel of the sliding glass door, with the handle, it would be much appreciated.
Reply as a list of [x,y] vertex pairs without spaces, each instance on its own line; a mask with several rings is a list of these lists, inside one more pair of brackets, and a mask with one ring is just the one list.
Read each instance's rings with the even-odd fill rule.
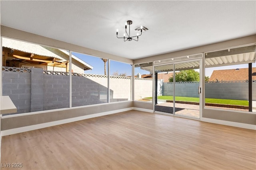
[[200,61],[174,64],[175,114],[200,118]]

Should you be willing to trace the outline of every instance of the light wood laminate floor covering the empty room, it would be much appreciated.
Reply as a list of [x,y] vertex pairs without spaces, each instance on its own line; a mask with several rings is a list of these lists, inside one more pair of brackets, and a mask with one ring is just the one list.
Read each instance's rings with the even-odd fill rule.
[[256,169],[254,130],[125,111],[2,137],[10,169]]

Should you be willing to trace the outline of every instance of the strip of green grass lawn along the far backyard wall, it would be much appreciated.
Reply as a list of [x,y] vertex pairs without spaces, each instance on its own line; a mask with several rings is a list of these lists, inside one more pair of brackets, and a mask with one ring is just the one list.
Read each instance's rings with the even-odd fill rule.
[[[159,100],[173,100],[173,96],[158,96]],[[152,97],[149,97],[147,99],[152,99]],[[192,97],[175,97],[176,101],[184,101],[184,102],[199,102],[199,98],[192,98]],[[230,99],[211,99],[211,98],[205,98],[206,103],[212,103],[212,104],[229,104],[229,105],[238,105],[238,106],[249,106],[249,103],[247,100],[230,100]]]

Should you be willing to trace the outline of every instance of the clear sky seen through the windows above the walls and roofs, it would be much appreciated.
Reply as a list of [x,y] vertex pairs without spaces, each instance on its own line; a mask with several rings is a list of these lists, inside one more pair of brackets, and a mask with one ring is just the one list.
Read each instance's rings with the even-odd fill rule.
[[[104,74],[104,62],[99,57],[92,57],[90,55],[80,54],[80,53],[72,53],[79,59],[85,61],[86,63],[93,66],[92,70],[84,71],[87,74]],[[252,63],[252,67],[256,67],[256,63]],[[230,66],[220,66],[220,67],[212,67],[206,68],[205,75],[211,76],[213,70],[225,70],[225,69],[236,69],[236,68],[248,68],[248,64],[239,64],[239,65],[230,65]],[[108,64],[107,64],[108,70]],[[199,71],[198,69],[196,69]],[[132,75],[132,66],[130,64],[121,63],[118,61],[110,61],[110,75],[113,75],[114,72],[118,72],[118,74],[126,73],[127,76]],[[140,67],[135,68],[134,75],[136,74],[149,74],[148,71],[141,70]]]

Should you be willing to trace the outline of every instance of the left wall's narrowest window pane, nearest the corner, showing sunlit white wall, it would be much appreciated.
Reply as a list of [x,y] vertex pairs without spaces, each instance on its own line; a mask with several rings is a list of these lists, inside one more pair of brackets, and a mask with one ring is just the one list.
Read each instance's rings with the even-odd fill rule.
[[132,65],[110,61],[110,102],[132,99]]

